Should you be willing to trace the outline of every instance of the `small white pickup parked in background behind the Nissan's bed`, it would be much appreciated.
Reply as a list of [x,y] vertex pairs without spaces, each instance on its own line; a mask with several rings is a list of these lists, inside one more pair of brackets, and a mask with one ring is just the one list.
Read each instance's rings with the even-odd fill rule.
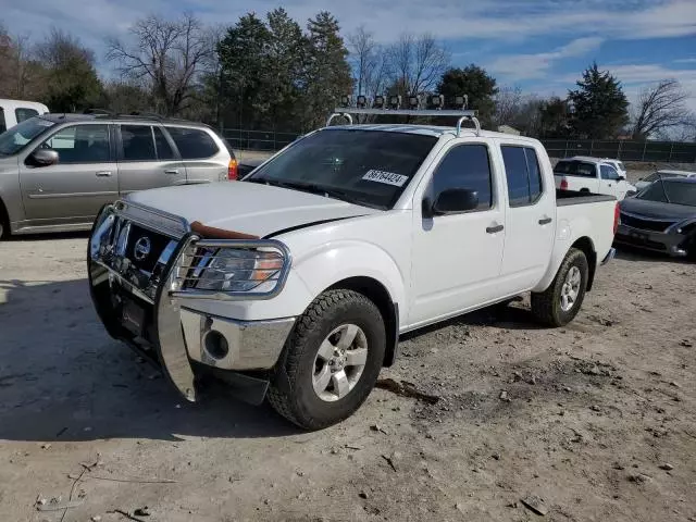
[[625,174],[619,173],[608,161],[576,156],[564,158],[554,167],[556,188],[614,196],[618,200],[636,188],[626,182]]

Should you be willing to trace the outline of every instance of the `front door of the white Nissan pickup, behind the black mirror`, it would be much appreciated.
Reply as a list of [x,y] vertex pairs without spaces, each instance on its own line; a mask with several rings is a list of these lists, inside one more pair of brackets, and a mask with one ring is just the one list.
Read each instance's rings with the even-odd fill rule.
[[[432,179],[413,200],[413,256],[409,326],[451,316],[499,297],[505,229],[493,154],[487,145],[464,141],[440,154]],[[477,191],[474,211],[422,214],[423,201],[435,201],[448,188]],[[424,203],[432,204],[432,203]]]

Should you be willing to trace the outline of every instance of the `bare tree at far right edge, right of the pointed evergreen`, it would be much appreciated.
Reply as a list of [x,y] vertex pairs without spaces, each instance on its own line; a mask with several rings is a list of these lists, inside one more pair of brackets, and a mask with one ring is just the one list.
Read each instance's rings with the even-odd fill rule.
[[686,108],[689,94],[676,79],[662,79],[646,87],[633,110],[633,139],[645,139],[687,125],[693,114]]

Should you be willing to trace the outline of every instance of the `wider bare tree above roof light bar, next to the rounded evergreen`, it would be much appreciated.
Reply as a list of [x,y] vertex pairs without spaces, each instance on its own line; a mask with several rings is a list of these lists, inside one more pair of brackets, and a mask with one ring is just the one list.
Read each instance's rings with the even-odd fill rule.
[[449,53],[427,33],[401,35],[387,57],[391,83],[401,95],[431,91],[449,65]]

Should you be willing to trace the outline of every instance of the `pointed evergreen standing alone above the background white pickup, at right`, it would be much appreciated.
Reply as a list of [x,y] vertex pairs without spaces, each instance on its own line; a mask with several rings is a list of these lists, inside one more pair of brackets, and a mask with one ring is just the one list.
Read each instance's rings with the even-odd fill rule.
[[577,87],[568,95],[573,108],[570,117],[572,135],[582,139],[616,137],[629,123],[629,100],[621,83],[593,63],[583,73]]

